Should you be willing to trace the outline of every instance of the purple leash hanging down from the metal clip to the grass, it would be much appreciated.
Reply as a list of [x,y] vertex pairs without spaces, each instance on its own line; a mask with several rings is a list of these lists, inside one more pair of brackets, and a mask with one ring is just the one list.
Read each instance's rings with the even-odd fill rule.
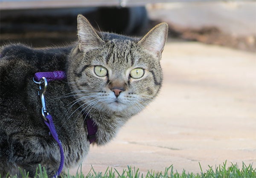
[[54,138],[55,141],[57,141],[58,146],[60,148],[61,163],[60,163],[58,171],[57,171],[57,173],[55,175],[55,177],[58,177],[61,174],[61,170],[62,170],[63,165],[64,165],[64,151],[63,151],[63,148],[62,148],[62,145],[61,145],[61,141],[58,138],[58,134],[56,132],[54,123],[52,121],[52,116],[51,115],[47,115],[46,118],[47,118],[48,121],[44,121],[44,123],[48,126],[52,137]]

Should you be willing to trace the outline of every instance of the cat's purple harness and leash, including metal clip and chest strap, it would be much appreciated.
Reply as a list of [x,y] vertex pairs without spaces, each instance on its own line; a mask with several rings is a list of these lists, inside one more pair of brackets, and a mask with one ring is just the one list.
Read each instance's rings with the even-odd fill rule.
[[[58,167],[58,171],[56,172],[54,177],[58,177],[58,175],[60,175],[61,170],[63,168],[64,150],[62,148],[61,141],[58,138],[58,134],[56,132],[56,129],[55,129],[55,126],[54,126],[54,123],[52,120],[52,116],[49,114],[49,112],[47,112],[44,94],[47,89],[47,82],[52,81],[52,80],[64,80],[66,78],[67,77],[66,77],[66,74],[64,71],[37,72],[37,73],[35,73],[34,78],[33,78],[34,82],[39,84],[38,95],[41,98],[42,116],[44,118],[44,123],[48,126],[48,128],[50,130],[50,134],[55,139],[55,141],[58,143],[58,146],[60,148],[61,161],[60,161],[60,165]],[[91,118],[86,118],[86,122],[87,122],[87,131],[88,131],[87,138],[91,144],[94,141],[96,141],[97,126]]]

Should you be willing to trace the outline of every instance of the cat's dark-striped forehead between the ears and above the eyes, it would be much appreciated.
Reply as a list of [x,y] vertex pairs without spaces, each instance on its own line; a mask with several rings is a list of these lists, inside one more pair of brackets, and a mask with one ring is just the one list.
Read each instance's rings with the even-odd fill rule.
[[145,68],[146,63],[140,60],[143,58],[143,52],[137,43],[138,40],[118,34],[108,35],[111,35],[111,38],[105,39],[97,49],[92,65],[102,65],[116,72],[125,72],[134,66]]

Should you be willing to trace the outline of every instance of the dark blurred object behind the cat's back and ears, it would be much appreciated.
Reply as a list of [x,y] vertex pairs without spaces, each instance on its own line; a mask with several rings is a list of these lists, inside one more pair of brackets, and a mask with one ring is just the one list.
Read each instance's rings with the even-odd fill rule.
[[76,40],[77,14],[83,14],[100,31],[134,36],[143,34],[148,26],[144,6],[1,10],[0,44],[22,42],[47,46],[70,43]]

